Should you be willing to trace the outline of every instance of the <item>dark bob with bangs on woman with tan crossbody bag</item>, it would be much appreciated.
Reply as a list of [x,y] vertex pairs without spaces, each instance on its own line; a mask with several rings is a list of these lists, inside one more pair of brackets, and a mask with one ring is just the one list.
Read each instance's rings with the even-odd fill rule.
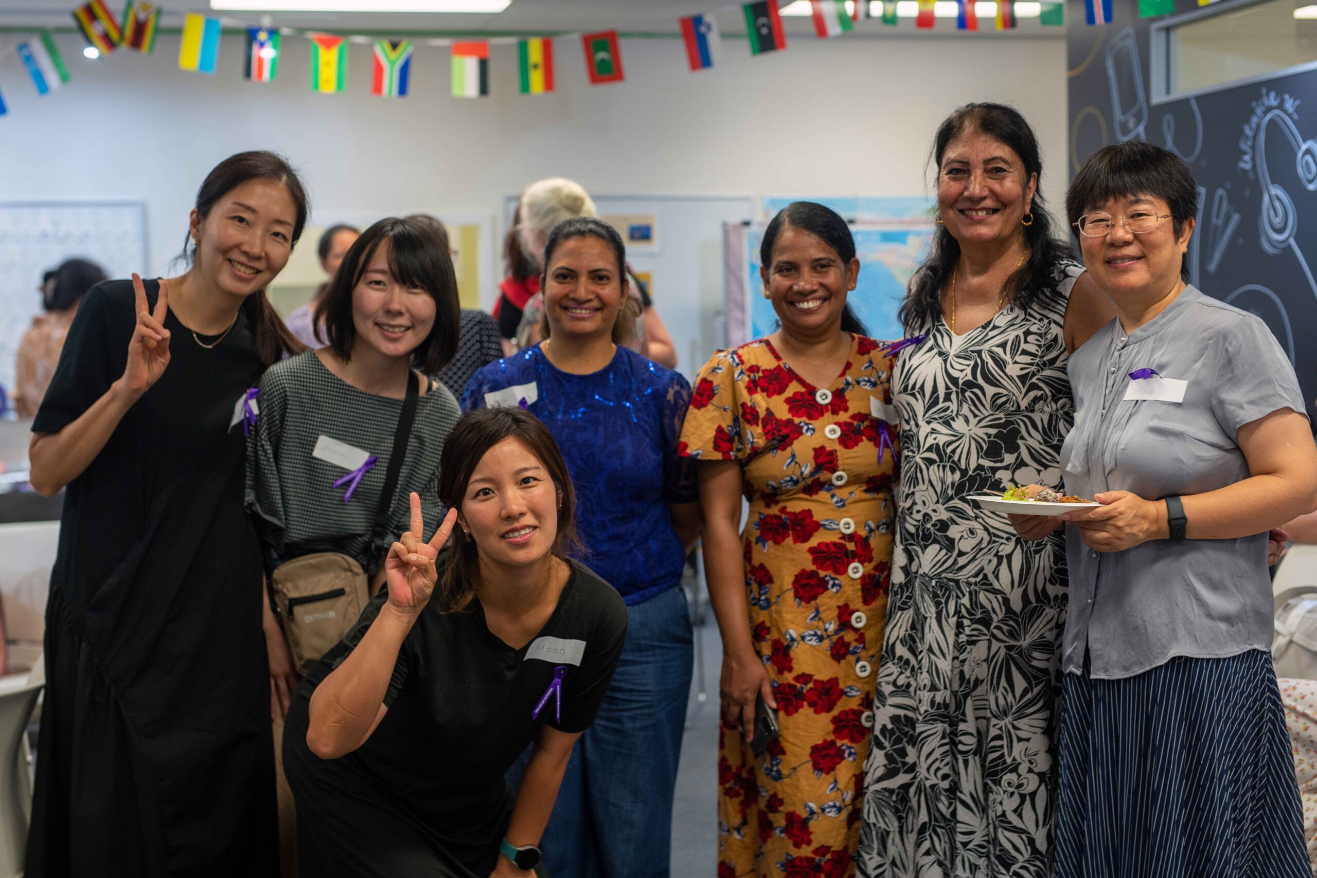
[[348,362],[357,338],[357,328],[352,321],[352,291],[361,283],[375,250],[385,241],[389,241],[389,271],[394,279],[408,287],[420,287],[435,299],[435,325],[425,341],[412,351],[412,366],[433,375],[457,353],[461,305],[457,297],[457,274],[448,247],[440,244],[423,220],[389,217],[362,232],[316,305],[316,321],[324,323],[324,334],[333,353]]

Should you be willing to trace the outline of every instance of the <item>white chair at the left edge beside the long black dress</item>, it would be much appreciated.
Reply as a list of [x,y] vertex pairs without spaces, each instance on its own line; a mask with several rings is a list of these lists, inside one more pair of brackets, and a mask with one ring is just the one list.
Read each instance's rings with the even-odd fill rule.
[[24,744],[41,687],[28,675],[0,678],[0,878],[22,878],[32,820],[32,767]]

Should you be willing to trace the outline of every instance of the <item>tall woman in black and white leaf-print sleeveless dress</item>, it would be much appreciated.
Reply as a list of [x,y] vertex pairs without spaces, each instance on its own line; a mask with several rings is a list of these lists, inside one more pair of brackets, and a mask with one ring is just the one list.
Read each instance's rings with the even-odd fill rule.
[[865,878],[1043,878],[1051,865],[1059,536],[965,498],[1062,484],[1065,362],[1112,304],[1052,237],[1038,142],[969,104],[936,134],[939,229],[902,308],[902,459],[857,854]]

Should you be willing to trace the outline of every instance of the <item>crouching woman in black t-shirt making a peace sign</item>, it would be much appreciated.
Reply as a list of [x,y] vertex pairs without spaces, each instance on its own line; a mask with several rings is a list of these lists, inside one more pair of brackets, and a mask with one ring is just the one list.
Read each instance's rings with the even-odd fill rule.
[[[411,495],[387,588],[288,711],[308,878],[543,875],[540,833],[618,663],[627,611],[568,559],[572,482],[539,420],[491,408],[458,421],[439,496],[449,513],[427,544]],[[514,804],[503,774],[531,741]]]

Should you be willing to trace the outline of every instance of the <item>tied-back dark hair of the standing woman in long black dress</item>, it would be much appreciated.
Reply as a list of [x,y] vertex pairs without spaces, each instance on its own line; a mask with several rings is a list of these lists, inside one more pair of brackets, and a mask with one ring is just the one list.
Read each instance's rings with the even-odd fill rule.
[[[298,246],[298,238],[302,237],[302,230],[307,225],[307,213],[311,211],[311,203],[307,199],[307,190],[302,186],[302,180],[298,179],[296,171],[292,170],[286,158],[277,153],[267,153],[265,150],[238,153],[216,165],[205,175],[205,179],[202,180],[202,187],[196,191],[196,204],[194,207],[196,208],[198,219],[205,220],[211,213],[211,208],[220,199],[252,180],[275,180],[288,190],[288,196],[292,199],[292,205],[298,212],[288,245],[291,253],[292,247]],[[191,234],[188,234],[187,241],[183,244],[183,259],[188,265],[196,259],[196,245]],[[270,304],[265,290],[258,290],[248,296],[248,301],[242,303],[242,307],[250,309],[248,313],[252,315],[254,323],[255,351],[262,365],[270,366],[279,362],[284,354],[298,354],[306,350],[306,345],[298,341],[288,332],[288,328],[283,325],[283,319],[279,317],[274,305]]]

